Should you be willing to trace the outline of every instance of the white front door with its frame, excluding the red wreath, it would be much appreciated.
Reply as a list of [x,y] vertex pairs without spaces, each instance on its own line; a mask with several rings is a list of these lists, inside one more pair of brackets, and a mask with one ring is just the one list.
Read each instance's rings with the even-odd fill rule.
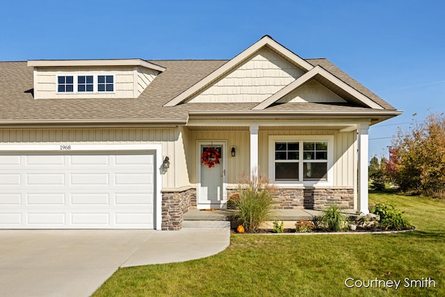
[[[197,208],[221,208],[225,199],[225,142],[199,142],[198,145],[198,178]],[[202,154],[209,148],[220,154],[217,163],[209,166],[202,162]]]

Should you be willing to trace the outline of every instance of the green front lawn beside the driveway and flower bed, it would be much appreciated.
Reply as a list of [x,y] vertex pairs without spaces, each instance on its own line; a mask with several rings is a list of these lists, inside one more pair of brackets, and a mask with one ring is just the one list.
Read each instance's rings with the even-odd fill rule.
[[[445,200],[371,193],[418,231],[401,234],[233,234],[227,250],[177,264],[121,268],[93,296],[445,296]],[[346,278],[401,280],[393,289],[348,289]],[[404,288],[432,278],[436,288]]]

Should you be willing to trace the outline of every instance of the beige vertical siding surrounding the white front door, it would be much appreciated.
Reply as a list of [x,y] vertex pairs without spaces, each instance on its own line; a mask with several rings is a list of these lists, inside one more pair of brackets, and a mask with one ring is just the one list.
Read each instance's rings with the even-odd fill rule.
[[[250,171],[250,134],[249,131],[189,131],[187,159],[191,184],[197,183],[197,141],[227,141],[227,183],[235,184],[243,173]],[[230,156],[230,148],[236,147],[236,156]],[[223,153],[224,154],[224,153]],[[224,156],[223,156],[224,157]]]

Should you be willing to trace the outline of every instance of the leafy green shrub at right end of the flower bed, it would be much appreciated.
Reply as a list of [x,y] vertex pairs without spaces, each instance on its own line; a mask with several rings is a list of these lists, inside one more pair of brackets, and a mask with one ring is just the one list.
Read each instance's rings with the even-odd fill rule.
[[380,216],[380,226],[385,230],[408,230],[413,227],[410,221],[403,217],[403,212],[393,204],[378,202],[371,207],[371,213]]

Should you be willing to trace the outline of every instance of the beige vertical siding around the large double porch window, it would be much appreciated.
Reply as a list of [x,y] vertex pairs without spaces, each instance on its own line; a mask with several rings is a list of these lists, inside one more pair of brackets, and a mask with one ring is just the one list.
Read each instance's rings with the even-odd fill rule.
[[355,168],[355,131],[340,133],[338,131],[310,130],[310,131],[259,131],[258,154],[259,170],[268,176],[268,141],[272,135],[333,135],[334,136],[334,186],[354,185]]

